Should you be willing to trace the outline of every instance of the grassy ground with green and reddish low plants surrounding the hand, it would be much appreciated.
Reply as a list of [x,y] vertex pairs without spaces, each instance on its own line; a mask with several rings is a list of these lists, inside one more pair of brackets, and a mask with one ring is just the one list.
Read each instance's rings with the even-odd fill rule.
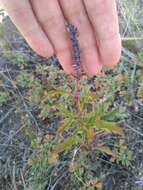
[[[143,189],[142,2],[119,1],[122,58],[73,81],[0,24],[0,190]],[[0,12],[3,14],[3,11]]]

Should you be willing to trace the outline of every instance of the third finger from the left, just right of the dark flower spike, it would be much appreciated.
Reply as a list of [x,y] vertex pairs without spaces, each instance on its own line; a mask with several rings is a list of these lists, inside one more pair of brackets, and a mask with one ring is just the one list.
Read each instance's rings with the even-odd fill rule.
[[102,68],[96,40],[81,0],[59,0],[64,16],[79,31],[81,64],[89,75],[99,74]]

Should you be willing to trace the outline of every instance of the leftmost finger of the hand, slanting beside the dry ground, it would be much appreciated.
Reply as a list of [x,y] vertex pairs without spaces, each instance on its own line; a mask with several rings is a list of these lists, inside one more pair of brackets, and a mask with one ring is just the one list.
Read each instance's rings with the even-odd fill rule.
[[54,54],[52,44],[37,22],[28,0],[1,0],[1,3],[32,49],[44,57]]

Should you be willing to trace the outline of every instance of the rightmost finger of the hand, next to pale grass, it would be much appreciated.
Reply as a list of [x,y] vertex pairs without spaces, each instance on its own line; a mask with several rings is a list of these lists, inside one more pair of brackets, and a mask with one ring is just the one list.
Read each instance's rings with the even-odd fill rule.
[[101,61],[114,66],[121,55],[121,38],[115,0],[83,0],[97,40]]

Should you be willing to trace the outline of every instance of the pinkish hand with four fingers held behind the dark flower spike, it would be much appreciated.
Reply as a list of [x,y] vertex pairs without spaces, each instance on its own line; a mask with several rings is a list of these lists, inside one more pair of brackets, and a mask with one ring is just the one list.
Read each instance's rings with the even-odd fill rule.
[[79,31],[81,64],[87,75],[113,67],[121,55],[115,0],[0,0],[30,47],[43,57],[56,54],[72,74],[72,51],[65,21]]

